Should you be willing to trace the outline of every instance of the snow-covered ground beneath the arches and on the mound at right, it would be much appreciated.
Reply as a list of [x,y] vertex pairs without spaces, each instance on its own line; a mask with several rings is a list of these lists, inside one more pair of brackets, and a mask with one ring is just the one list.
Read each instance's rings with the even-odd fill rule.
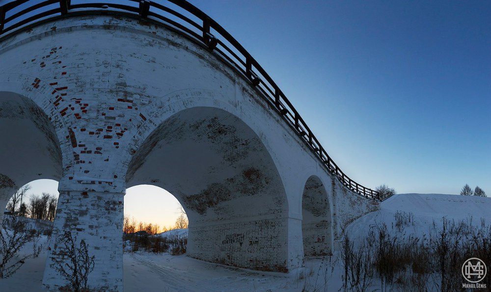
[[[396,231],[395,217],[409,216],[404,233],[423,234],[438,228],[441,218],[467,220],[481,225],[491,222],[491,198],[444,194],[399,194],[382,202],[381,210],[354,221],[346,229],[352,238],[364,237],[371,225],[385,223]],[[472,218],[472,219],[471,219]],[[186,235],[187,230],[170,231],[158,236]],[[47,237],[42,237],[47,240]],[[24,252],[32,247],[27,246]],[[47,251],[26,264],[11,278],[0,280],[0,291],[42,291],[40,288]],[[331,258],[312,258],[306,266],[289,274],[228,267],[191,259],[185,255],[136,252],[124,254],[125,291],[338,291],[341,264],[337,253]],[[332,261],[332,262],[331,262]],[[371,290],[379,289],[374,284]],[[22,288],[20,288],[22,287]],[[370,291],[371,291],[370,290]]]

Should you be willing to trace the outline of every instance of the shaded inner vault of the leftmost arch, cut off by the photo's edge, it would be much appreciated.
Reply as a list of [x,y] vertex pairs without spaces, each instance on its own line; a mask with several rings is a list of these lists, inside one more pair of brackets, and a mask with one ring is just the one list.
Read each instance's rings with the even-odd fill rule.
[[[31,99],[0,92],[0,205],[21,186],[37,179],[58,180],[62,155],[55,128]],[[3,212],[0,213],[0,221]]]

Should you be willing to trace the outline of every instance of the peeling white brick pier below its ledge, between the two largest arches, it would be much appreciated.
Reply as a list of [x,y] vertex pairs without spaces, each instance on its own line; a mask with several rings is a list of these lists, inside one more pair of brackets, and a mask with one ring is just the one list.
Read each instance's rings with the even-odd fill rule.
[[[93,186],[100,183],[92,182]],[[50,241],[50,254],[46,260],[43,285],[49,291],[58,291],[69,282],[60,275],[56,266],[71,264],[63,255],[65,244],[61,237],[70,231],[88,245],[89,256],[95,256],[94,269],[88,275],[91,291],[123,291],[123,196],[122,192],[80,190],[81,184],[64,183],[61,186],[56,211],[55,227]],[[85,185],[86,186],[86,185]],[[86,189],[86,188],[85,188]]]

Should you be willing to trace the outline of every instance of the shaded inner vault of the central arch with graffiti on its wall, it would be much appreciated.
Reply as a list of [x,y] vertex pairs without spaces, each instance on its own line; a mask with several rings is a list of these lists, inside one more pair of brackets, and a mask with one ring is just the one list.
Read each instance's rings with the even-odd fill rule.
[[260,138],[237,116],[214,107],[177,112],[140,145],[126,181],[176,196],[190,221],[191,257],[288,270],[284,186]]

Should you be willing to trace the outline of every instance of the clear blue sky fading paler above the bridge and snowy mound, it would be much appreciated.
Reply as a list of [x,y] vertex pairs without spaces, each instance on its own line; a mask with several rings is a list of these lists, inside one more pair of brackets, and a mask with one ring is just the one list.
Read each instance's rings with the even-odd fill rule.
[[191,3],[259,61],[358,183],[453,194],[467,183],[491,196],[490,1]]

